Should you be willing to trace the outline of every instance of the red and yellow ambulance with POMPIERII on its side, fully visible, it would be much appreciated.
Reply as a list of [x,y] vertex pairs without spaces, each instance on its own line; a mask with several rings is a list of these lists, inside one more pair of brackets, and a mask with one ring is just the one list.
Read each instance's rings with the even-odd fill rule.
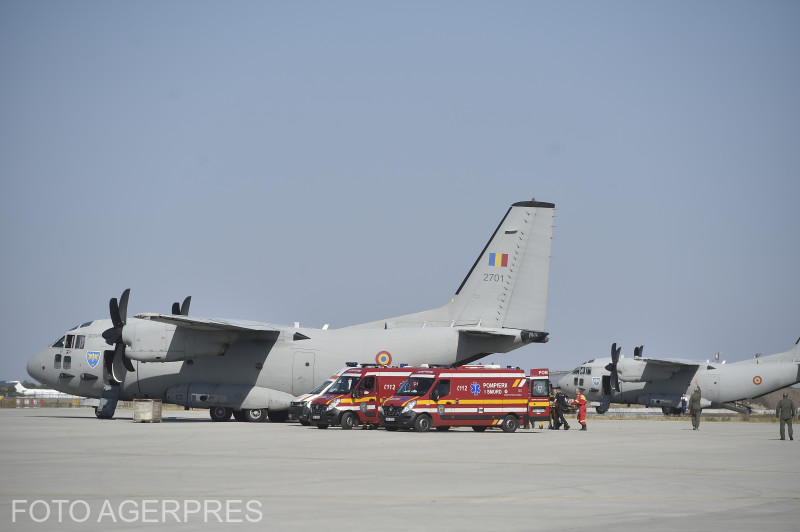
[[[468,426],[477,432],[488,427],[514,432],[520,425],[528,426],[532,417],[549,417],[546,381],[538,373],[529,379],[521,369],[419,368],[384,402],[381,422],[388,430],[427,432],[432,427]],[[543,392],[541,397],[531,395],[533,382],[536,393]]]

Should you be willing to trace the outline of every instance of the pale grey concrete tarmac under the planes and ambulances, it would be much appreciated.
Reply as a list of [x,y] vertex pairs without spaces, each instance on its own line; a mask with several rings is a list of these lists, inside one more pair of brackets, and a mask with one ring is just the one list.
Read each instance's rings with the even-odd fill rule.
[[590,418],[587,432],[417,434],[117,414],[0,410],[0,529],[800,527],[800,445],[780,441],[777,423],[695,432],[688,418]]

